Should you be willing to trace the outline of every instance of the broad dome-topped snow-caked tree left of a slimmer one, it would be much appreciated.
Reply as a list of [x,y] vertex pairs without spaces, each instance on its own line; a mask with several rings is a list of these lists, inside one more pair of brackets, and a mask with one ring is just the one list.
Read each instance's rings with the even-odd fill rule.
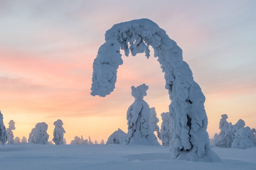
[[32,143],[48,144],[49,135],[46,132],[48,125],[45,122],[37,123],[32,135]]

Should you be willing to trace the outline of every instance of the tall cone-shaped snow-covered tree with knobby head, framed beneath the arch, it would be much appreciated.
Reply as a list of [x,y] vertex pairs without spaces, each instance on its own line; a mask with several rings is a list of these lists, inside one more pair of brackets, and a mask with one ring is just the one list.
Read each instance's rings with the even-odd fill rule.
[[145,84],[136,88],[131,87],[131,95],[135,98],[128,108],[126,119],[128,120],[128,133],[123,144],[125,145],[160,145],[152,129],[150,122],[151,111],[149,105],[143,100],[147,95],[149,86]]

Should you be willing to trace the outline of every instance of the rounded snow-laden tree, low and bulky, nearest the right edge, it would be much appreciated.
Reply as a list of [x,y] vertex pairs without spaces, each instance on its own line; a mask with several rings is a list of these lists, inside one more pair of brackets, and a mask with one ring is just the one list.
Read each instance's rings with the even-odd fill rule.
[[247,149],[254,146],[252,130],[248,126],[238,129],[235,133],[235,137],[231,148]]

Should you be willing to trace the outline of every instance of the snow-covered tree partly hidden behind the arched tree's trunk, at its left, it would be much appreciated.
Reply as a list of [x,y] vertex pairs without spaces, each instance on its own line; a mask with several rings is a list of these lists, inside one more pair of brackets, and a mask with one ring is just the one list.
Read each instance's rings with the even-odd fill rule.
[[171,118],[169,112],[163,112],[162,116],[162,124],[161,124],[161,135],[162,135],[162,145],[170,146],[171,141]]

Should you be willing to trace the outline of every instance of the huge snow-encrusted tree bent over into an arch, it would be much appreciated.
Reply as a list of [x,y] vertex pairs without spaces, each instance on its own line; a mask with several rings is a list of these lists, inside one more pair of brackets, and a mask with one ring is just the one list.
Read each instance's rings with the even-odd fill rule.
[[105,41],[93,62],[91,94],[105,97],[113,92],[117,69],[123,64],[120,49],[125,51],[126,56],[129,52],[133,56],[145,52],[149,58],[149,46],[153,47],[172,101],[169,106],[174,136],[170,143],[172,158],[221,161],[209,145],[205,97],[200,86],[193,80],[192,72],[183,61],[182,50],[176,42],[148,19],[115,24],[106,31]]

